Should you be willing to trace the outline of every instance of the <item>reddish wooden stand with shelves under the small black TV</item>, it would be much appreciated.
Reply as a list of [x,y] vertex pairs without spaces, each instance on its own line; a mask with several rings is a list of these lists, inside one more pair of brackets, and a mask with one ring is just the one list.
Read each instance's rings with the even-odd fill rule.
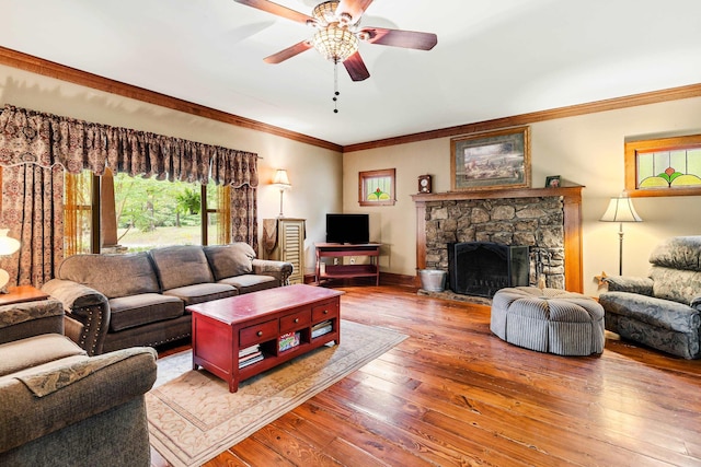
[[[360,243],[360,244],[341,244],[341,243],[317,243],[317,283],[324,279],[350,279],[350,278],[375,278],[375,284],[380,284],[380,266],[378,259],[380,256],[381,243]],[[368,256],[369,265],[324,265],[321,268],[321,258],[332,257],[341,258],[344,256]]]

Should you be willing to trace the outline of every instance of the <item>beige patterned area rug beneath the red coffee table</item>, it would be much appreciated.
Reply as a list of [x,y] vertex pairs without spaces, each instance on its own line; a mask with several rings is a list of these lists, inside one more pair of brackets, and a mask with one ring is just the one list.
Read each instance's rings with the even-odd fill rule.
[[192,351],[166,357],[159,360],[159,378],[146,395],[151,445],[175,467],[206,463],[405,338],[342,319],[338,346],[245,380],[234,394],[222,380],[193,371]]

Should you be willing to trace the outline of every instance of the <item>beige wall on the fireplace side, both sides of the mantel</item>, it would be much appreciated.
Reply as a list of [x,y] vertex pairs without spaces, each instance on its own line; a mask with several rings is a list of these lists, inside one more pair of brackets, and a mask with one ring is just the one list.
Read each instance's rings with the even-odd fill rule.
[[[584,291],[598,294],[594,276],[618,273],[618,224],[599,222],[608,200],[623,189],[623,144],[627,139],[701,133],[701,98],[609,110],[536,122],[531,126],[532,186],[561,175],[584,185]],[[397,205],[358,206],[358,172],[397,168]],[[415,273],[415,210],[411,195],[416,177],[434,176],[434,191],[450,189],[450,139],[357,151],[343,157],[343,207],[368,212],[372,240],[387,244],[380,265],[386,272]],[[623,273],[646,275],[647,258],[662,238],[701,234],[700,197],[635,198],[643,223],[624,224]]]

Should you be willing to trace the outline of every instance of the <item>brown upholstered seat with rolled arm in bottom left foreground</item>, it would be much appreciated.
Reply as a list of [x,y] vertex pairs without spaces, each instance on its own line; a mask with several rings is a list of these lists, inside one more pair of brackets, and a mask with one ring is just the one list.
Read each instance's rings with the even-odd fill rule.
[[57,300],[0,306],[0,465],[150,465],[156,351],[88,357]]

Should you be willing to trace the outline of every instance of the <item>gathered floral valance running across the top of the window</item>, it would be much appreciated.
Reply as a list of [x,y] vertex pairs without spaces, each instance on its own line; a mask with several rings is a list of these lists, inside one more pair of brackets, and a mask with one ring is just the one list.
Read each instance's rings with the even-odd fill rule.
[[181,138],[82,121],[5,104],[0,165],[60,164],[70,173],[105,167],[131,176],[257,187],[257,155]]

